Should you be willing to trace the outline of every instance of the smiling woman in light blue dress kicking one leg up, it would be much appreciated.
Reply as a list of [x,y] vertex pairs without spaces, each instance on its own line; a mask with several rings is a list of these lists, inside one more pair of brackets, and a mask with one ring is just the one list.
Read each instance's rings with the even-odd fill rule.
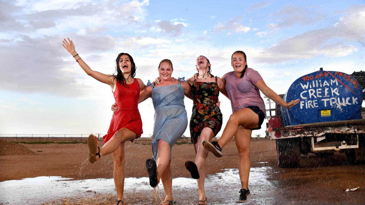
[[138,102],[151,97],[155,108],[152,159],[147,159],[146,169],[149,173],[150,185],[157,186],[162,180],[165,190],[165,201],[162,205],[174,203],[172,196],[172,175],[170,169],[171,149],[184,134],[188,126],[188,117],[184,105],[184,96],[192,98],[189,84],[183,78],[171,77],[172,62],[164,59],[158,66],[162,82],[147,84],[139,94]]

